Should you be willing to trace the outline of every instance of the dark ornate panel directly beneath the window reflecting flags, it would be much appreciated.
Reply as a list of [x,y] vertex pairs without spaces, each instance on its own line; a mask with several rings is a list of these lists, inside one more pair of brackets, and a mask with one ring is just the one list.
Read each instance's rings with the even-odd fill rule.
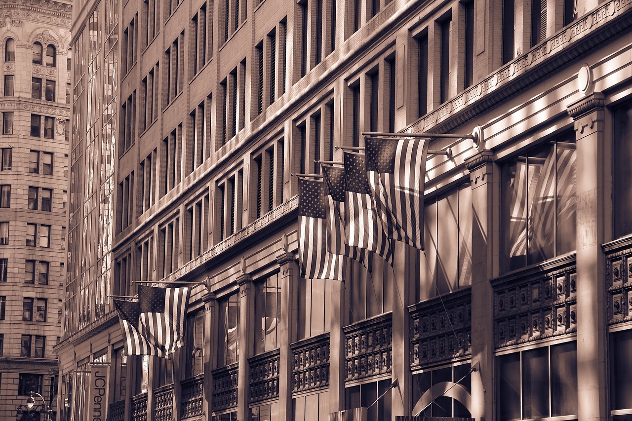
[[576,281],[569,259],[492,281],[495,347],[576,332]]

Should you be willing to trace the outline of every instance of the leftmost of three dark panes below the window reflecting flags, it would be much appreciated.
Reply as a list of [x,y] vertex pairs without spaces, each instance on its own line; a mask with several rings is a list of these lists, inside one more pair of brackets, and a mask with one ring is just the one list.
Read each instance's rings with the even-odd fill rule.
[[502,420],[520,420],[520,353],[496,358],[498,412]]

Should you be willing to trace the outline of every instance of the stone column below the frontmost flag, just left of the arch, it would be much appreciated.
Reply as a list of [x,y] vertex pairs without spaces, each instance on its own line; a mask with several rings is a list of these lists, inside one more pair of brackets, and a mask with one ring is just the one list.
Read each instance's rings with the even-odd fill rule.
[[[395,421],[398,415],[412,415],[413,409],[411,390],[413,390],[413,375],[410,372],[410,314],[408,305],[414,302],[415,288],[411,285],[414,278],[408,276],[407,262],[410,262],[412,250],[404,243],[394,241],[395,263],[392,280],[392,377],[391,381],[398,381],[398,387],[391,389],[391,419]],[[388,266],[387,263],[385,265]]]

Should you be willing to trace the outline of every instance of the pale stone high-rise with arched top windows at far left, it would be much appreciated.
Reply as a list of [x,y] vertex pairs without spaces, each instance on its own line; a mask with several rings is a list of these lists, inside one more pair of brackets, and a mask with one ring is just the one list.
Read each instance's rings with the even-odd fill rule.
[[0,418],[9,419],[29,391],[47,404],[56,401],[52,348],[61,338],[66,277],[71,2],[7,1],[0,13]]

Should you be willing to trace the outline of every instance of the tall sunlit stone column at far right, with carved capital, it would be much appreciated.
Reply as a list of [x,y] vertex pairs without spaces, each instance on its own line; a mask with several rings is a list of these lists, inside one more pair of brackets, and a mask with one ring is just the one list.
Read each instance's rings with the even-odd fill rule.
[[568,106],[577,161],[577,382],[580,420],[607,420],[604,101],[601,92]]

